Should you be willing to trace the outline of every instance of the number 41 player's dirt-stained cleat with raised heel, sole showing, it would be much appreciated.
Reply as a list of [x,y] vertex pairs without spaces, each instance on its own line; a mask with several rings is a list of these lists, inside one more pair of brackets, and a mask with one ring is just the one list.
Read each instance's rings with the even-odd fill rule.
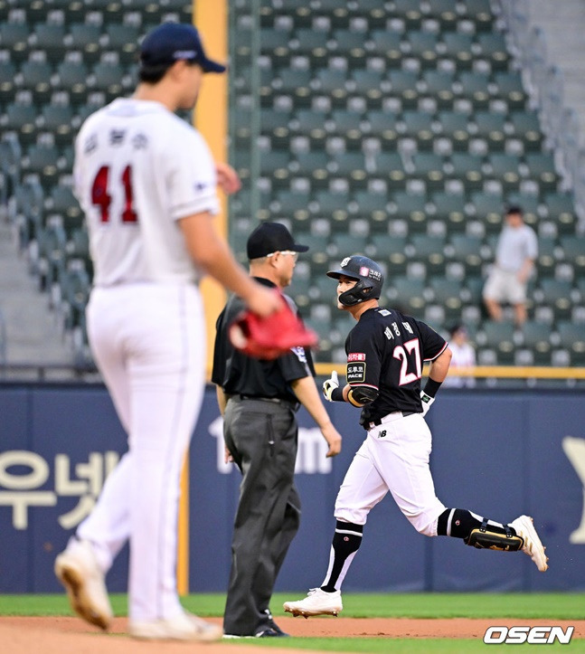
[[55,574],[65,586],[71,608],[80,618],[106,630],[112,621],[108,591],[89,541],[71,538],[55,559]]

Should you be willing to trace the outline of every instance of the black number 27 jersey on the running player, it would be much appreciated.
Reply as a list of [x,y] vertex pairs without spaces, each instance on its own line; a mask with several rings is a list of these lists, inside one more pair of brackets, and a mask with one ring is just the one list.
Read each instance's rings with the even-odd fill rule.
[[347,383],[378,392],[363,407],[360,423],[394,411],[422,412],[422,366],[446,347],[442,336],[416,318],[381,307],[365,311],[345,340]]

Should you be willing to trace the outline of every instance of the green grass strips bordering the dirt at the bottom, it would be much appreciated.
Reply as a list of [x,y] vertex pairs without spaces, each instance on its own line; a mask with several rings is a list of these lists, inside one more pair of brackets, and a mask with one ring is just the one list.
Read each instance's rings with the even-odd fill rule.
[[[302,593],[276,593],[272,611],[284,615],[282,603],[300,599]],[[110,595],[117,615],[126,615],[125,594]],[[196,594],[183,598],[185,608],[198,615],[222,615],[225,595],[222,593]],[[57,595],[0,595],[0,615],[71,615],[64,594]],[[585,593],[344,593],[344,617],[348,618],[518,618],[550,620],[583,620]],[[297,618],[301,620],[301,618]],[[334,618],[331,619],[335,620]],[[230,641],[227,641],[230,642]],[[238,644],[274,647],[273,640],[237,640]],[[518,646],[516,646],[518,647]],[[531,647],[525,645],[524,647]],[[585,652],[585,640],[572,640],[569,646],[554,643],[549,648],[569,647],[571,651]],[[387,639],[387,638],[291,638],[279,639],[278,648],[312,649],[336,652],[475,652],[485,650],[481,639]],[[488,651],[509,649],[509,645],[492,645]],[[211,651],[211,650],[210,650]]]

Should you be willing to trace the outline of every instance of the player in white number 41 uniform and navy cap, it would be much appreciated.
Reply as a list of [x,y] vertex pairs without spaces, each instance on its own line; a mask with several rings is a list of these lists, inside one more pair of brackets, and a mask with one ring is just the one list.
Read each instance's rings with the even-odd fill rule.
[[[219,625],[182,608],[176,591],[180,473],[204,388],[206,272],[266,316],[278,297],[251,280],[215,232],[216,166],[203,137],[175,116],[192,109],[208,59],[193,25],[146,35],[132,98],[90,116],[75,147],[75,189],[94,262],[88,336],[128,434],[128,451],[55,561],[82,618],[107,629],[104,583],[129,539],[128,624],[143,639],[215,640]],[[239,185],[220,166],[226,191]]]

